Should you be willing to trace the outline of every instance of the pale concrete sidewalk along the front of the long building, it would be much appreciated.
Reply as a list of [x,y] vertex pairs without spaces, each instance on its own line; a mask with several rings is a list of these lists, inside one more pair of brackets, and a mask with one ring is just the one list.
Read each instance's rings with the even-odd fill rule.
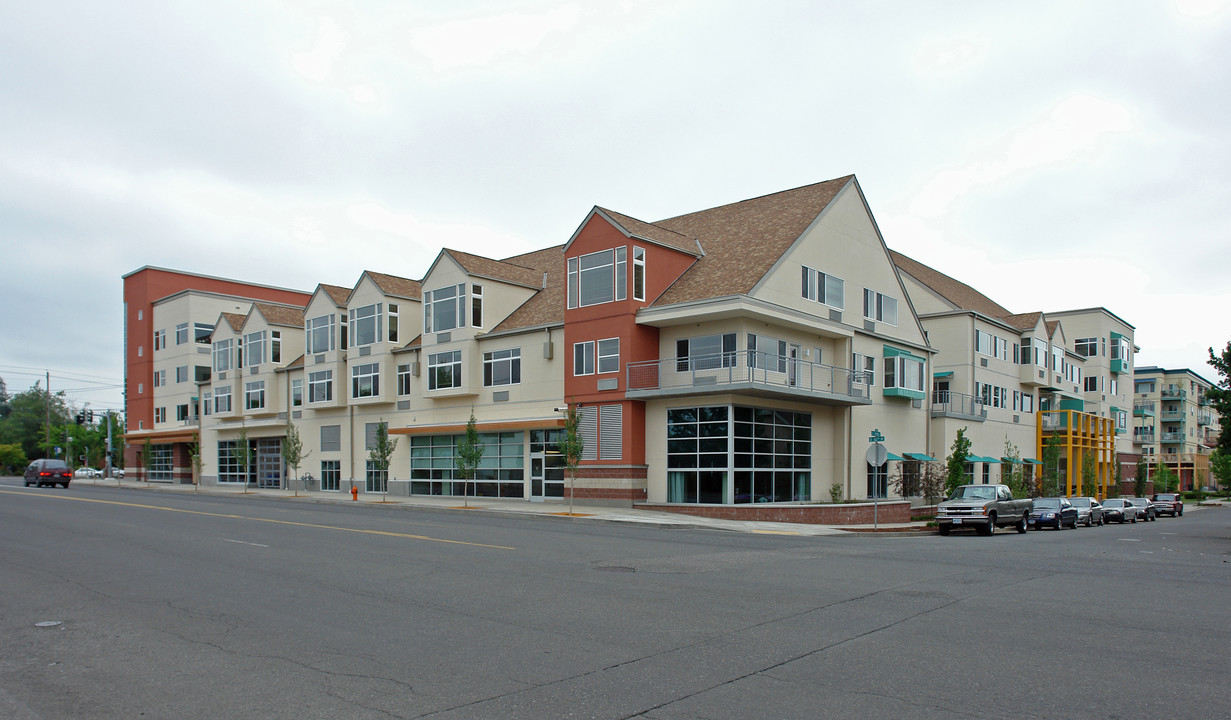
[[[171,482],[144,482],[142,480],[133,480],[124,478],[117,480],[111,479],[89,479],[80,478],[73,481],[73,485],[89,485],[96,487],[121,487],[126,490],[150,490],[150,491],[162,491],[162,492],[197,492],[198,495],[231,495],[241,496],[245,492],[235,487],[220,487],[217,485],[196,487],[193,485],[181,485]],[[728,519],[715,519],[705,517],[693,517],[687,514],[677,514],[672,512],[660,512],[650,510],[635,510],[627,507],[595,507],[587,505],[575,505],[574,513],[569,514],[569,505],[560,501],[550,502],[527,502],[523,500],[496,500],[490,497],[471,497],[469,501],[469,508],[463,508],[463,500],[460,497],[442,497],[442,496],[414,496],[414,497],[388,497],[382,498],[380,495],[359,492],[358,501],[351,500],[348,491],[343,492],[325,492],[320,490],[300,490],[298,496],[292,490],[267,490],[267,489],[255,489],[249,487],[246,495],[251,497],[267,497],[287,500],[293,502],[318,502],[318,503],[351,503],[357,505],[377,505],[385,507],[422,507],[433,508],[442,511],[458,511],[458,512],[485,512],[494,514],[533,514],[540,517],[553,517],[566,521],[593,521],[593,522],[609,522],[609,523],[627,523],[627,524],[649,524],[659,527],[676,527],[676,528],[709,528],[714,530],[729,530],[739,533],[760,533],[760,534],[777,534],[777,535],[856,535],[856,534],[876,534],[876,535],[899,535],[899,534],[927,534],[921,533],[921,529],[926,527],[927,523],[895,523],[886,524],[880,523],[876,528],[879,532],[872,532],[872,526],[858,526],[858,527],[835,527],[835,526],[815,526],[815,524],[801,524],[801,523],[773,523],[773,522],[752,522],[752,521],[728,521]]]

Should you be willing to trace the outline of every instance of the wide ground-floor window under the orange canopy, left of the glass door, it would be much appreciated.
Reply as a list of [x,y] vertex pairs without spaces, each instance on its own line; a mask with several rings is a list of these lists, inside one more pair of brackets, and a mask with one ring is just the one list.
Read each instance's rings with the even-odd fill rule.
[[414,436],[410,438],[411,495],[470,495],[478,497],[526,497],[524,433],[479,433],[483,458],[470,482],[457,470],[460,434]]

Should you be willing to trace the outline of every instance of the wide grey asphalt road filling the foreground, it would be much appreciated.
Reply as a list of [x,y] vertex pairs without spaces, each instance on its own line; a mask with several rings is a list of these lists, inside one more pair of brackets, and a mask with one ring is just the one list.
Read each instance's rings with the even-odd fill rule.
[[1231,507],[800,538],[9,480],[0,543],[14,720],[1231,713]]

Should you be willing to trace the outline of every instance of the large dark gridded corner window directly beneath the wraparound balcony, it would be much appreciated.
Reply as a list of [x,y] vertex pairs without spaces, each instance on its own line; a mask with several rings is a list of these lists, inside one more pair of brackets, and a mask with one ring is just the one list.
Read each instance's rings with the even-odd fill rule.
[[811,500],[812,416],[766,407],[667,411],[667,502]]

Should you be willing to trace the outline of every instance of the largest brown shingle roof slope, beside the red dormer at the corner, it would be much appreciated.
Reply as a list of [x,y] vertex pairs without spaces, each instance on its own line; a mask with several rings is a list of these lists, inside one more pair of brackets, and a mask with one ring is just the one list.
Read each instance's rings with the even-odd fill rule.
[[705,251],[654,304],[747,294],[853,178],[840,177],[654,223],[698,239]]

